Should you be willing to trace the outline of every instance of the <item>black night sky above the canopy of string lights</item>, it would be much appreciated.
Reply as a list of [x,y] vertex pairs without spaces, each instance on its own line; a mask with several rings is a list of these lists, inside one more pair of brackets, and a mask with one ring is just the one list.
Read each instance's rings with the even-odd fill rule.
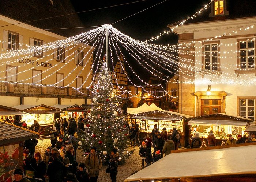
[[[112,24],[162,1],[164,0],[146,0],[138,3],[79,13],[78,15],[85,26]],[[72,1],[76,12],[130,2],[136,2],[136,0],[96,0],[91,1],[91,3],[84,0]],[[209,0],[167,0],[132,17],[119,21],[112,26],[132,38],[145,41],[146,39],[159,35],[159,33],[163,31],[169,30],[167,27],[168,24],[184,20],[187,16],[193,15],[209,2]],[[85,31],[89,29],[92,28],[86,28]],[[177,36],[166,34],[151,43],[175,44],[177,43]]]

